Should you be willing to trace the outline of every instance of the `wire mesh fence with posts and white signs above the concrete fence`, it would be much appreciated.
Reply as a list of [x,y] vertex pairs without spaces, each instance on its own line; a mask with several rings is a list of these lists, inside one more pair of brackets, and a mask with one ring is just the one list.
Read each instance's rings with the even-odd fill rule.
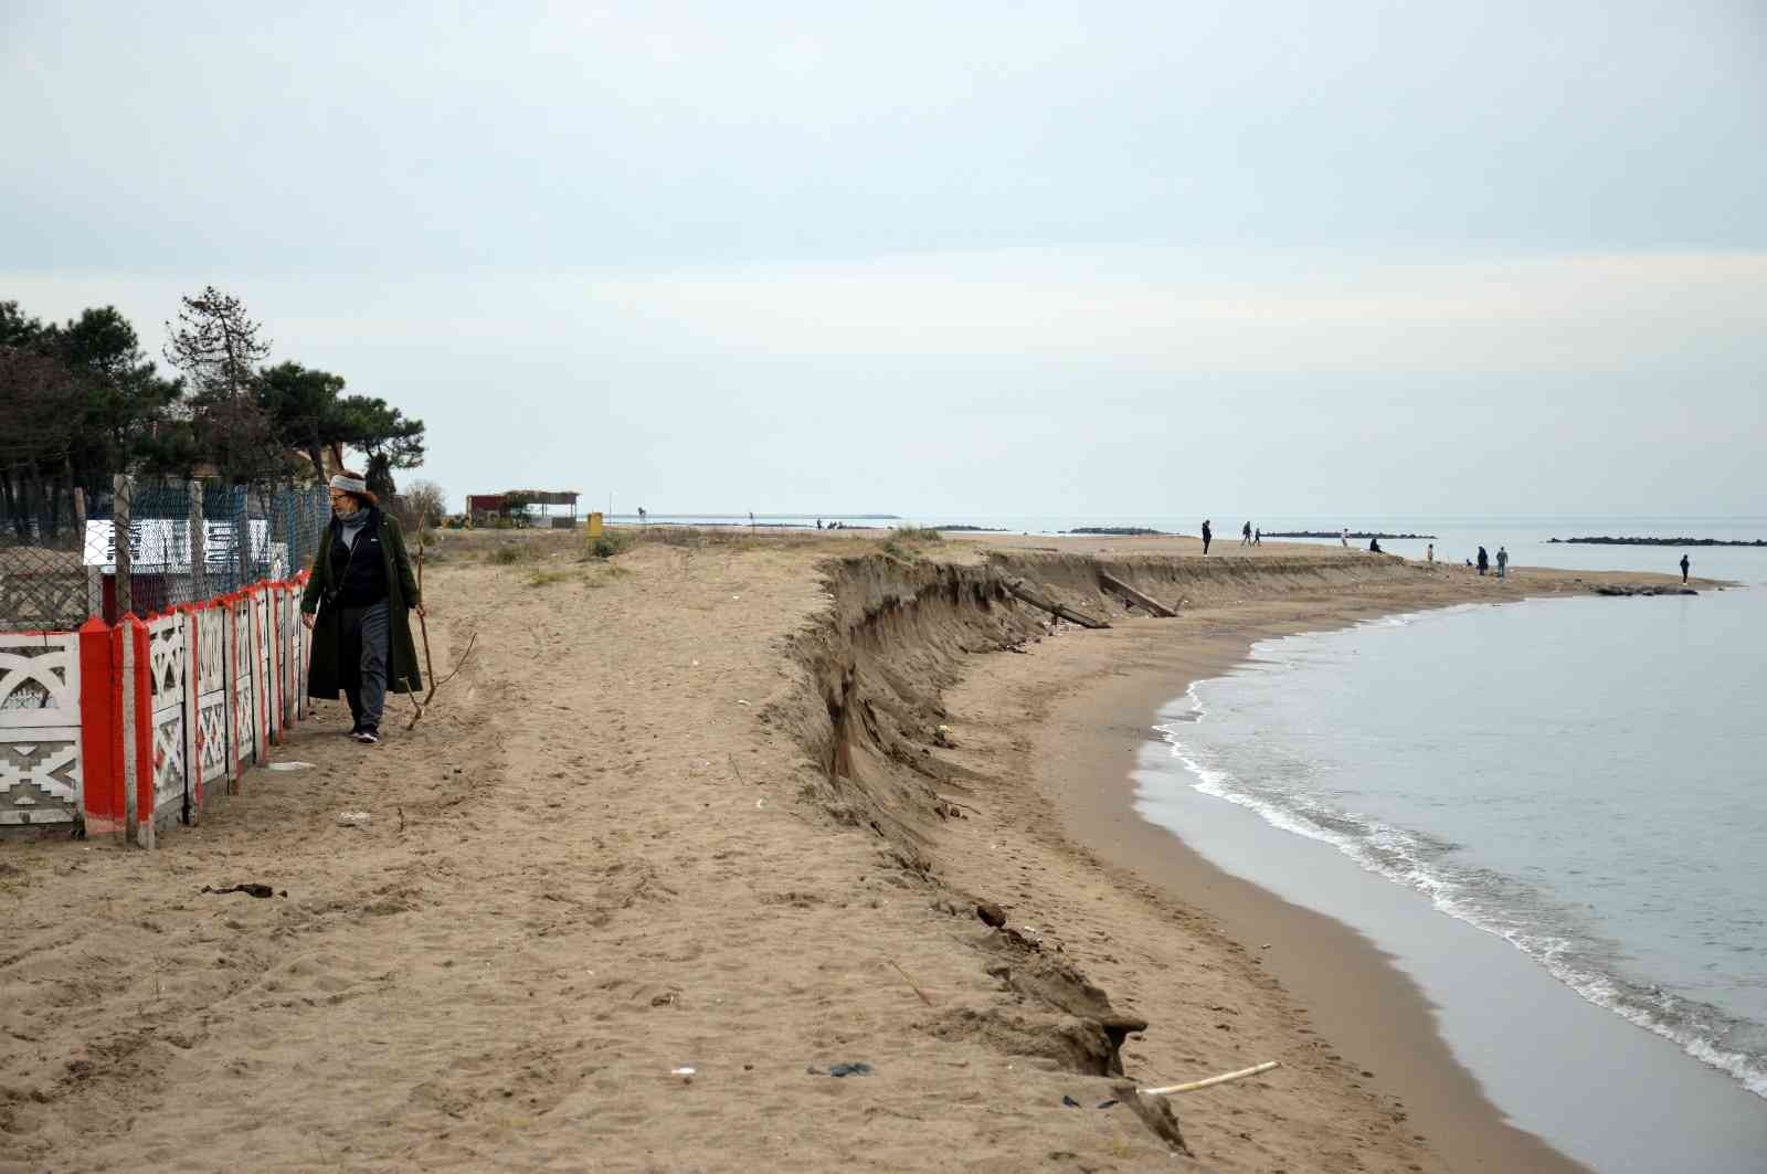
[[[71,629],[210,599],[313,562],[330,520],[320,488],[136,484],[9,497],[0,534],[0,631]],[[117,541],[118,532],[127,541]]]

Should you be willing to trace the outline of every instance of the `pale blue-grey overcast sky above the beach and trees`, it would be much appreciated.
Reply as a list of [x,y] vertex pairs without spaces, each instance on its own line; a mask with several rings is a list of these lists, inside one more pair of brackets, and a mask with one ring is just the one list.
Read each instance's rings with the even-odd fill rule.
[[1760,0],[283,7],[0,0],[0,299],[456,506],[1767,515]]

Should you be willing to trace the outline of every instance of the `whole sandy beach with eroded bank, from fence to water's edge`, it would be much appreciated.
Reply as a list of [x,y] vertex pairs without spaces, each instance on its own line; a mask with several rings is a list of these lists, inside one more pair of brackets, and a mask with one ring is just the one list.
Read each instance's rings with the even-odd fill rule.
[[[152,854],[0,843],[0,1170],[1571,1169],[1348,930],[1134,820],[1127,762],[1258,635],[1585,582],[1276,543],[585,564],[530,536],[502,566],[449,537],[431,637],[479,651],[413,732],[392,698],[364,750],[322,705],[277,751],[313,769]],[[1087,557],[1184,617],[1051,631],[991,587],[1103,610]],[[242,880],[288,895],[200,893]],[[1097,1107],[1136,1018],[1141,1082],[1285,1066],[1182,1100],[1173,1155]]]

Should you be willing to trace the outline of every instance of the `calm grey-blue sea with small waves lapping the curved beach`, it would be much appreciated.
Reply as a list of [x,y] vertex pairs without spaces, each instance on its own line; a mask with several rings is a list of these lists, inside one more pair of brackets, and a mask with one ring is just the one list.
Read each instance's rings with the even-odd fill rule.
[[[1200,522],[848,525],[1196,534]],[[1244,518],[1212,522],[1216,550],[1233,553]],[[1136,796],[1145,819],[1216,866],[1391,955],[1491,1102],[1562,1153],[1596,1170],[1767,1174],[1767,546],[1551,541],[1755,541],[1767,516],[1253,525],[1421,534],[1382,546],[1421,559],[1433,543],[1451,564],[1502,546],[1523,582],[1528,568],[1673,575],[1686,553],[1695,576],[1735,583],[1452,606],[1260,642],[1163,707]]]

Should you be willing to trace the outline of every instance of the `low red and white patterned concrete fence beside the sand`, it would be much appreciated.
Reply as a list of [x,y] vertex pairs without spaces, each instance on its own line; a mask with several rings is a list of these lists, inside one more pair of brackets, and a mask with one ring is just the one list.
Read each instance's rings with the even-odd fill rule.
[[0,835],[154,847],[311,714],[306,573],[80,631],[0,633]]

